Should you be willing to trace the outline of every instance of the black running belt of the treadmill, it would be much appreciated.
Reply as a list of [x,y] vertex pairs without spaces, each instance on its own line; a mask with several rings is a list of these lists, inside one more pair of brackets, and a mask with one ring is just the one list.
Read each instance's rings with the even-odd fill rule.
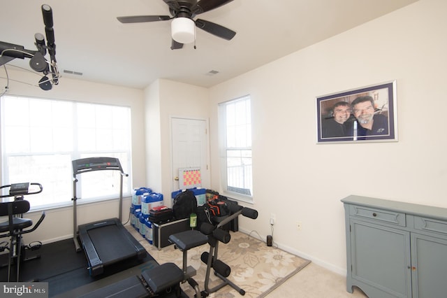
[[135,246],[126,239],[124,231],[117,225],[108,225],[87,231],[105,266],[136,255]]

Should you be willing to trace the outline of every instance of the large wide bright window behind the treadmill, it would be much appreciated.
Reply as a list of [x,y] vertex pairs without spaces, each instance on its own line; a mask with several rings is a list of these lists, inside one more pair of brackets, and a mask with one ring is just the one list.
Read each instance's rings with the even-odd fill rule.
[[[2,185],[41,183],[43,192],[27,196],[31,208],[72,204],[73,159],[117,157],[131,173],[129,107],[28,97],[1,97]],[[116,173],[115,173],[116,172]],[[119,196],[119,172],[76,176],[82,201]],[[124,178],[123,194],[130,194]]]

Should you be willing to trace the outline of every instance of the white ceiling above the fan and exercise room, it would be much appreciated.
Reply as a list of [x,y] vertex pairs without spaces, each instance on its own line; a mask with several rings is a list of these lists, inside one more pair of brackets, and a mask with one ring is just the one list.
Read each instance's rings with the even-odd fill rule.
[[0,41],[29,50],[36,50],[34,34],[45,34],[41,5],[52,7],[60,84],[66,77],[142,89],[157,78],[210,87],[416,0],[233,0],[197,16],[236,31],[231,41],[197,29],[197,48],[180,50],[170,50],[170,20],[116,19],[170,15],[163,0],[1,1]]

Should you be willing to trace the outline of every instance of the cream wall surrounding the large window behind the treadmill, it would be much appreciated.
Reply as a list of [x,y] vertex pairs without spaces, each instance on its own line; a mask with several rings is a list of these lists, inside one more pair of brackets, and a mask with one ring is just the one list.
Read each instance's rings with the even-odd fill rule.
[[[124,169],[127,173],[132,171],[133,185],[145,185],[145,143],[141,140],[144,134],[140,130],[144,129],[144,97],[142,90],[105,85],[99,83],[89,83],[82,80],[73,80],[62,77],[59,85],[56,85],[50,91],[43,91],[39,87],[17,83],[20,80],[29,84],[37,84],[38,76],[35,73],[14,71],[8,68],[10,80],[8,94],[42,97],[48,99],[64,99],[71,101],[85,101],[98,104],[116,104],[131,107],[132,118],[132,169]],[[2,80],[4,83],[4,80]],[[2,86],[3,87],[3,86]],[[1,175],[1,173],[0,173]],[[32,181],[31,181],[32,182]],[[38,181],[34,181],[38,182]],[[45,185],[43,185],[45,192]],[[72,204],[71,197],[67,197],[68,204]],[[126,220],[128,214],[126,211],[131,206],[131,199],[125,198],[123,204],[123,220]],[[92,222],[98,220],[98,214],[102,218],[117,217],[117,200],[101,202],[98,204],[84,204],[82,200],[78,201],[78,223]],[[27,213],[27,217],[36,222],[41,212]],[[46,211],[45,220],[41,227],[35,232],[24,235],[26,243],[30,241],[52,242],[59,239],[66,239],[73,236],[73,208],[64,207]]]

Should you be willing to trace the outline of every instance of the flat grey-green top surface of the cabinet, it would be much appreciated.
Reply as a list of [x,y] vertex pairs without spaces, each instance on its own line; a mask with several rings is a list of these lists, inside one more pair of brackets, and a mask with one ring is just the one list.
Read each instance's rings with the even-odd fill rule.
[[390,201],[386,199],[376,199],[371,197],[362,197],[351,195],[341,200],[344,204],[353,204],[371,208],[381,208],[390,211],[403,212],[412,215],[428,216],[430,218],[439,218],[447,220],[447,208],[411,204],[402,201]]

